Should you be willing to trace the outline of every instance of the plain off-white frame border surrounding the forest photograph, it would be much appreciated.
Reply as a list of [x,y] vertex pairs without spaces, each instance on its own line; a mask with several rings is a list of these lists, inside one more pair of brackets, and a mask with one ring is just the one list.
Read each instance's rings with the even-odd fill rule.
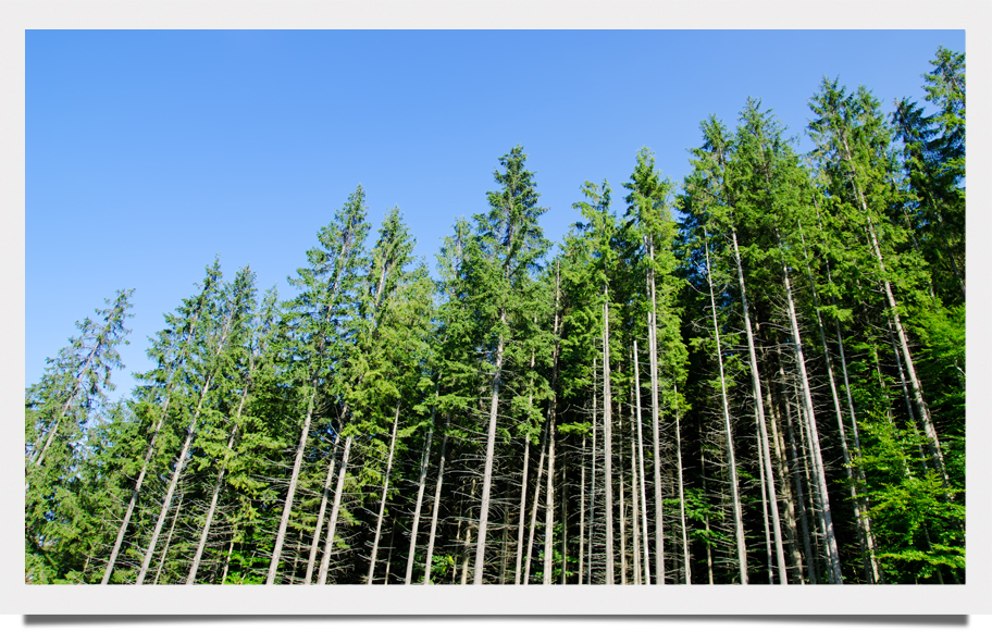
[[[257,615],[962,615],[992,614],[990,443],[984,413],[989,235],[988,96],[992,3],[945,0],[784,1],[10,1],[0,0],[0,426],[3,457],[0,612]],[[965,586],[26,586],[21,547],[24,384],[24,30],[34,28],[951,28],[967,29],[968,131],[968,583]],[[666,60],[665,63],[687,63]],[[978,104],[978,107],[976,106]],[[978,174],[977,176],[975,174]],[[979,211],[980,210],[980,211]],[[977,245],[977,247],[976,247]],[[978,257],[978,258],[976,258]],[[22,335],[17,336],[16,333]],[[978,385],[976,387],[975,385]]]

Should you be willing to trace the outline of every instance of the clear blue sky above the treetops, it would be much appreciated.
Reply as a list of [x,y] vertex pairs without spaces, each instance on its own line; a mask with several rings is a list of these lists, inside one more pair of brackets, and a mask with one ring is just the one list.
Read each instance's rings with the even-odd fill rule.
[[[520,144],[548,238],[583,182],[615,205],[641,147],[681,182],[699,122],[762,99],[808,149],[823,76],[888,112],[963,30],[28,30],[25,377],[115,289],[135,288],[126,364],[220,256],[259,287],[305,264],[360,183],[373,232],[398,206],[433,265],[459,215],[486,210]],[[619,207],[617,210],[620,210]]]

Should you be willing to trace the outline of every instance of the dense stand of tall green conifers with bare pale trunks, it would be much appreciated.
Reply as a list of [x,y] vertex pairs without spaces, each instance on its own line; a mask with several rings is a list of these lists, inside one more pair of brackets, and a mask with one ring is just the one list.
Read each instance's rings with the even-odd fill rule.
[[513,147],[433,271],[359,186],[113,399],[117,292],[25,389],[25,583],[965,583],[965,54],[921,70],[824,78],[806,153],[709,116],[559,244]]

